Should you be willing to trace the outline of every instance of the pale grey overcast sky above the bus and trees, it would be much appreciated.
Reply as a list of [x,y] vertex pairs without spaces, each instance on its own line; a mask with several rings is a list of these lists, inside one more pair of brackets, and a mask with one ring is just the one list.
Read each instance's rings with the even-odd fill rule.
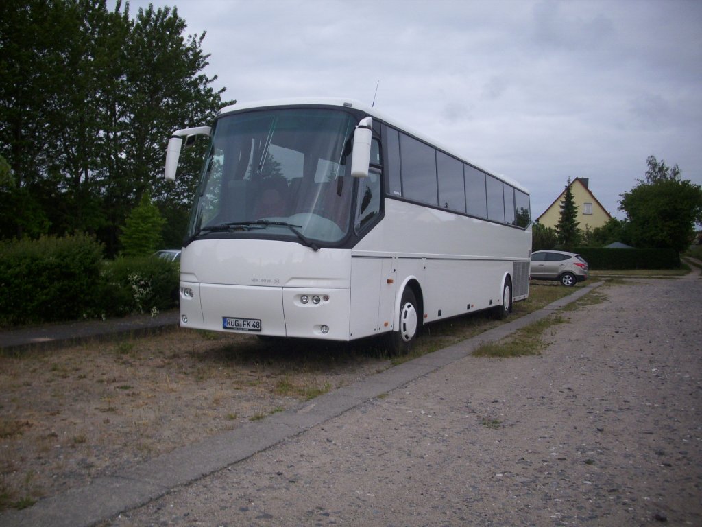
[[534,218],[576,177],[623,218],[649,155],[702,184],[699,0],[151,3],[207,32],[226,99],[370,105],[380,81],[383,115],[522,183]]

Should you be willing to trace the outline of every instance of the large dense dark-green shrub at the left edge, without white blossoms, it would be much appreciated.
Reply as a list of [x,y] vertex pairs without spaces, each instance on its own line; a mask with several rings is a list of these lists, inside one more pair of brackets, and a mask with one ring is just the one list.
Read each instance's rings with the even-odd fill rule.
[[101,267],[102,245],[87,235],[0,242],[1,320],[70,320],[93,311]]

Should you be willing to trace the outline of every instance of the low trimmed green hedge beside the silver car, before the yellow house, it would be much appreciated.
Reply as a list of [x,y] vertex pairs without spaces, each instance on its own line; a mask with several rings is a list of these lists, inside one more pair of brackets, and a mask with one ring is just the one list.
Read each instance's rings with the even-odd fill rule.
[[583,256],[590,271],[616,269],[675,269],[680,267],[680,255],[675,249],[603,249],[578,247],[574,252]]

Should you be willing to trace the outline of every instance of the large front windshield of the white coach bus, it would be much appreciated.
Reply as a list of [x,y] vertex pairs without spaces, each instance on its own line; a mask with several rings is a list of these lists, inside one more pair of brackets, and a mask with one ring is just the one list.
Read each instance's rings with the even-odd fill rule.
[[351,223],[355,124],[349,113],[322,108],[220,117],[186,245],[210,235],[291,238],[314,249],[343,240]]

